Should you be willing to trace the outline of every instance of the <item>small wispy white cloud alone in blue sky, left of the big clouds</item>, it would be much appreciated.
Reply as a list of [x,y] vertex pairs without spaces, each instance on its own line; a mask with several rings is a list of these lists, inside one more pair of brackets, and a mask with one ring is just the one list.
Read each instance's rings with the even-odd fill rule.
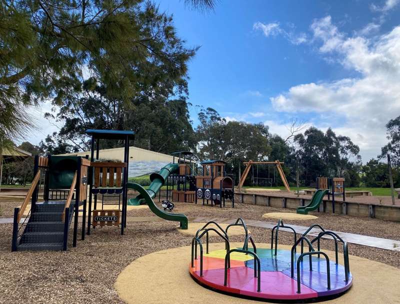
[[294,25],[288,24],[288,26],[290,27],[290,30],[286,31],[280,27],[280,24],[278,22],[262,23],[257,21],[253,24],[253,29],[261,30],[265,37],[276,36],[280,34],[290,43],[296,45],[307,42],[306,33],[303,32],[295,33],[293,31]]

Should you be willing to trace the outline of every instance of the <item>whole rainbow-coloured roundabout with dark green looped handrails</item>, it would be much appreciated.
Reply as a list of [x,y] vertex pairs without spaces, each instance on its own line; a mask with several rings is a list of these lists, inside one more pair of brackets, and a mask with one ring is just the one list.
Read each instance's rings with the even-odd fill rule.
[[[230,248],[228,229],[242,226],[245,241],[241,248]],[[217,223],[208,222],[199,229],[192,240],[191,263],[189,273],[199,284],[225,294],[258,300],[322,301],[337,297],[347,291],[352,284],[348,265],[347,244],[331,231],[325,231],[319,225],[312,225],[299,239],[294,232],[291,250],[277,249],[279,228],[284,226],[281,220],[272,229],[271,248],[256,248],[243,220],[228,225],[223,230]],[[307,234],[312,229],[320,233],[313,239]],[[208,252],[208,235],[212,231],[225,241],[224,250]],[[313,231],[314,232],[314,231]],[[202,244],[205,238],[205,252]],[[320,251],[320,239],[330,238],[335,243],[335,259]],[[275,239],[275,244],[273,240]],[[250,243],[250,244],[248,244]],[[249,245],[252,248],[248,248]],[[316,245],[317,249],[314,249]],[[297,248],[297,246],[300,247]],[[338,264],[338,247],[343,247],[342,261]],[[299,250],[300,252],[296,252]]]

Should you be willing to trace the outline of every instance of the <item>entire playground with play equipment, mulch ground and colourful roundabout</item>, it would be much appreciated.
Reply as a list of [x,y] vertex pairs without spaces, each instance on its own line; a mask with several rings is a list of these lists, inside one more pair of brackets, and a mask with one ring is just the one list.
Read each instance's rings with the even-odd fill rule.
[[[226,162],[178,151],[143,187],[127,179],[133,132],[86,134],[90,156],[36,156],[24,198],[2,201],[7,303],[398,303],[400,222],[343,178],[297,196],[274,161],[285,191],[254,191],[251,161],[235,187]],[[123,141],[124,161],[100,160],[101,140]]]

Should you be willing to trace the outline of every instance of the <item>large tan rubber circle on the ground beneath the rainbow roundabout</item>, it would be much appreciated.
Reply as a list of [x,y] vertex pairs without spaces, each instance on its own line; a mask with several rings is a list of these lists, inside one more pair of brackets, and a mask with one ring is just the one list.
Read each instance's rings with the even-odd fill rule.
[[[231,243],[231,247],[240,247]],[[269,248],[268,244],[259,248]],[[223,249],[223,243],[211,244],[210,250]],[[280,249],[290,246],[280,245]],[[334,253],[325,251],[329,258]],[[382,263],[350,256],[353,286],[339,298],[323,303],[398,304],[400,270]],[[154,252],[133,261],[117,277],[114,288],[127,304],[260,304],[219,294],[198,285],[190,277],[190,247]],[[341,263],[342,264],[342,263]]]

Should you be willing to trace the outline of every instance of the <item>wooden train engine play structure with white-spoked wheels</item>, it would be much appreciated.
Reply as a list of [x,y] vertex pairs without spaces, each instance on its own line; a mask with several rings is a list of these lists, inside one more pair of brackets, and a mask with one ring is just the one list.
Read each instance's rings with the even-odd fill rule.
[[211,202],[211,206],[225,206],[225,200],[229,199],[234,207],[233,180],[225,176],[225,164],[223,160],[206,160],[200,163],[203,175],[196,176],[196,203],[202,199],[203,205]]

